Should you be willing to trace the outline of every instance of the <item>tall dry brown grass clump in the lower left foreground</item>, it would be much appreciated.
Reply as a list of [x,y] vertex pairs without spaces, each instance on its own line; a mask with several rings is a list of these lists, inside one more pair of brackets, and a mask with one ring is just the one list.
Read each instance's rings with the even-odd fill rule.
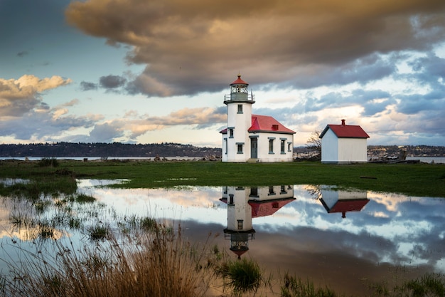
[[[205,248],[193,246],[178,232],[142,232],[138,238],[112,237],[95,245],[68,248],[56,256],[28,254],[13,278],[4,281],[4,296],[204,296],[212,273],[200,261]],[[210,253],[211,254],[211,253]]]

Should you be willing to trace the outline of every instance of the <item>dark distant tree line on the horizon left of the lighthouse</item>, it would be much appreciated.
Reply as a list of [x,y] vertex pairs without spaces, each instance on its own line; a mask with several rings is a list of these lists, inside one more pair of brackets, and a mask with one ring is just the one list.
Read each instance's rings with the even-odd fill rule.
[[1,157],[205,157],[207,155],[220,156],[221,149],[171,142],[146,145],[120,142],[0,145]]

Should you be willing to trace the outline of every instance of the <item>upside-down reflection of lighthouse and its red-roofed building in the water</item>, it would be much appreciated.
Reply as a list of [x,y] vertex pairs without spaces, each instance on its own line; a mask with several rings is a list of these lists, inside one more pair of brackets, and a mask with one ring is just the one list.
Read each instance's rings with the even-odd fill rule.
[[225,239],[230,239],[230,251],[240,259],[249,250],[249,241],[254,239],[252,218],[274,214],[294,201],[294,187],[223,187],[221,201],[227,203]]

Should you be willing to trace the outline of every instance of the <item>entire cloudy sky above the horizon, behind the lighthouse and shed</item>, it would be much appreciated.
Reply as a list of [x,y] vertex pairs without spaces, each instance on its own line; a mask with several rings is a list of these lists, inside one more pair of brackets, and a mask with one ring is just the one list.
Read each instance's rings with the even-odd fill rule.
[[445,145],[444,0],[0,0],[0,143],[220,146],[242,75],[304,145]]

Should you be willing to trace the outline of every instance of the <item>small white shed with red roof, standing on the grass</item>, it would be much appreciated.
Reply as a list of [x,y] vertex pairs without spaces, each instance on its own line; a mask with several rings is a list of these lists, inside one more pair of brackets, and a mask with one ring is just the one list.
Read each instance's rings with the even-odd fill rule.
[[369,135],[357,125],[327,125],[320,134],[322,163],[355,163],[368,161]]

